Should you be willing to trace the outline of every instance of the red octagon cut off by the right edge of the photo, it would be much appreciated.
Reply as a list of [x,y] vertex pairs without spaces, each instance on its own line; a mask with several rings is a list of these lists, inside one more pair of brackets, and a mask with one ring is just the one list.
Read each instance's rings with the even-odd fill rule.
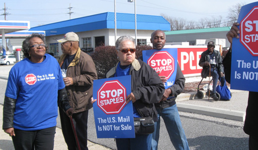
[[258,6],[241,21],[240,31],[240,42],[253,56],[258,56]]

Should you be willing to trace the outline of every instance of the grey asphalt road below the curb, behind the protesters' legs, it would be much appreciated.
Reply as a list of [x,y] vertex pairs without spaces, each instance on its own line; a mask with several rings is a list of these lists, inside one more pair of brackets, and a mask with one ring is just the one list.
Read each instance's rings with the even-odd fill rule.
[[[248,150],[243,122],[180,112],[191,150]],[[88,140],[116,150],[114,139],[97,139],[93,111],[88,119]],[[158,150],[175,150],[162,121]]]

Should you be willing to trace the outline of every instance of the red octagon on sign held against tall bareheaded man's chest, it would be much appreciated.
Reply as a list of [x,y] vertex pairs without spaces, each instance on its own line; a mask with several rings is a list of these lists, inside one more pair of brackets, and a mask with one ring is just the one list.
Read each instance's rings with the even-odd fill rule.
[[148,65],[153,68],[160,76],[169,78],[174,72],[174,58],[167,52],[155,52],[148,59]]

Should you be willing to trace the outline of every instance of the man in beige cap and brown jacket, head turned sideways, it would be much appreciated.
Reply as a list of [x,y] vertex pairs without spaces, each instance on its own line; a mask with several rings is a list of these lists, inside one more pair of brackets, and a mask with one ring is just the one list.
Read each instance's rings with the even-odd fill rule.
[[[72,114],[74,127],[72,127],[69,117],[65,116],[65,112],[60,109],[63,135],[68,150],[78,150],[79,147],[80,150],[88,150],[87,122],[88,110],[92,107],[90,100],[93,80],[97,79],[95,64],[88,54],[80,50],[79,37],[74,32],[66,33],[58,42],[61,43],[63,52],[59,64],[63,72],[69,104],[74,112]],[[73,133],[73,128],[76,134]]]

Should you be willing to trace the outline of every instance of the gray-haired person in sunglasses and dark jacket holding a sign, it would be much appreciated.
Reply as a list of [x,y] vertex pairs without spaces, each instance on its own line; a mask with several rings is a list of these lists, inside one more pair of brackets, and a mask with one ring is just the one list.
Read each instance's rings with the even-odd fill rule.
[[[116,41],[119,62],[111,68],[106,77],[131,75],[131,93],[126,101],[132,101],[133,117],[152,117],[158,120],[154,103],[161,99],[165,87],[158,74],[146,63],[135,59],[135,40],[130,36],[121,36]],[[96,99],[92,102],[96,101]],[[118,150],[151,150],[152,134],[135,138],[116,139]]]

